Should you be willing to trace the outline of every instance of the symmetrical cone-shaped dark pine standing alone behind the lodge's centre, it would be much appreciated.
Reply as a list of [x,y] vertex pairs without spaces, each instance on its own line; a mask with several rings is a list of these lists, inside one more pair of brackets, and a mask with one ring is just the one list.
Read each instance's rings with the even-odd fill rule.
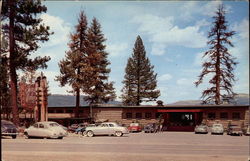
[[140,105],[143,101],[155,101],[160,96],[160,91],[156,90],[157,74],[154,74],[153,68],[146,57],[142,39],[138,36],[125,70],[121,96],[124,104]]

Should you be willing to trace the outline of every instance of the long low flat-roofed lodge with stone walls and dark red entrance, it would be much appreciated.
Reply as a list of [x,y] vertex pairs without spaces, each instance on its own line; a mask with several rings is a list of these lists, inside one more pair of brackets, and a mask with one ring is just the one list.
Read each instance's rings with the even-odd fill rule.
[[132,122],[141,125],[163,123],[167,131],[194,131],[196,125],[206,123],[229,123],[247,126],[249,105],[165,105],[165,106],[122,106],[95,105],[80,106],[79,118],[74,117],[75,107],[48,107],[48,120],[68,126],[89,121],[90,111],[95,121],[113,121],[128,126]]

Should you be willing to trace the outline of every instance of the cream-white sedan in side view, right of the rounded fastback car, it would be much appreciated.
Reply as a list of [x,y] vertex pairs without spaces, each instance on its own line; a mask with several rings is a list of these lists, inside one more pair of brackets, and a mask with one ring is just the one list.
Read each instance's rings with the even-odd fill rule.
[[86,136],[93,137],[94,135],[114,135],[122,136],[123,134],[128,134],[129,131],[126,127],[119,126],[114,122],[104,122],[96,127],[86,127]]

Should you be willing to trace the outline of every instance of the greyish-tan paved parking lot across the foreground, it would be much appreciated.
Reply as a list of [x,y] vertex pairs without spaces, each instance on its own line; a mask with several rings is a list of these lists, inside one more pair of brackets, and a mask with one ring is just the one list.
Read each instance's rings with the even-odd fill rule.
[[247,161],[249,136],[192,132],[130,133],[122,137],[2,138],[4,161]]

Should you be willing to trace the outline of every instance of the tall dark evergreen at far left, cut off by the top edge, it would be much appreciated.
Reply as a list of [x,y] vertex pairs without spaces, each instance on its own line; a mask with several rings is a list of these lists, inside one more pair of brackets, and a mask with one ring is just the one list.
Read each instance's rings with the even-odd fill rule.
[[9,41],[9,71],[11,87],[11,105],[13,122],[19,124],[17,105],[17,73],[18,69],[27,67],[37,69],[46,68],[49,57],[30,58],[39,46],[38,42],[48,40],[49,27],[42,24],[37,15],[46,12],[47,8],[40,0],[3,0],[2,17],[3,32]]

